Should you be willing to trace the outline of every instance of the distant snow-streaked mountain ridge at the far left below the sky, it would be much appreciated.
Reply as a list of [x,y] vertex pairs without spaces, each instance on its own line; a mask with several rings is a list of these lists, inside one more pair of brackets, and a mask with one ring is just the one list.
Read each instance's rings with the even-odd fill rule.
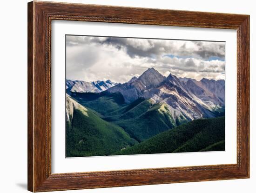
[[117,83],[112,82],[111,80],[98,80],[94,82],[66,80],[67,91],[76,93],[101,93],[102,91],[108,90],[108,88],[111,88],[115,85],[117,85]]

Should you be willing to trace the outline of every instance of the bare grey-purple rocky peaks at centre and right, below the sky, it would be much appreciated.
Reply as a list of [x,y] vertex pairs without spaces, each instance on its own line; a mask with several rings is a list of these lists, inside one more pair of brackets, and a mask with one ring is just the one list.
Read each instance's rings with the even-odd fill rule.
[[108,89],[119,92],[125,102],[139,97],[153,103],[166,104],[174,120],[195,120],[215,117],[214,111],[225,106],[225,81],[178,78],[173,74],[162,76],[154,68],[149,68],[136,79]]

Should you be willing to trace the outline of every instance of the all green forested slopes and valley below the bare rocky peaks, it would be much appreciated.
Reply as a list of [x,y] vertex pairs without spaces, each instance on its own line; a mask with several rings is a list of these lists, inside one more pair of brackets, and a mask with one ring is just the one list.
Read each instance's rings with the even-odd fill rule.
[[[224,117],[174,119],[167,104],[120,93],[75,93],[67,157],[224,150]],[[86,109],[86,110],[85,110]]]

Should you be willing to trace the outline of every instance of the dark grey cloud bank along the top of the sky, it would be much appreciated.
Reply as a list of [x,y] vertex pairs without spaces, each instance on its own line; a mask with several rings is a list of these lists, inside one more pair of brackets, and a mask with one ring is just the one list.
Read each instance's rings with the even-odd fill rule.
[[[180,43],[177,46],[175,42]],[[224,60],[225,57],[224,43],[219,42],[67,36],[67,46],[90,43],[105,44],[118,50],[123,48],[131,58],[136,56],[157,58],[164,53],[180,57],[195,57],[202,60],[209,60],[210,57]]]

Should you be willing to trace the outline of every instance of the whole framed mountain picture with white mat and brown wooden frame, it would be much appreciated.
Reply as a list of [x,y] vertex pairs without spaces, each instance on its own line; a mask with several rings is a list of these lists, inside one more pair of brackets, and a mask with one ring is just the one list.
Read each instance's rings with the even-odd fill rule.
[[249,178],[249,15],[28,3],[28,190]]

